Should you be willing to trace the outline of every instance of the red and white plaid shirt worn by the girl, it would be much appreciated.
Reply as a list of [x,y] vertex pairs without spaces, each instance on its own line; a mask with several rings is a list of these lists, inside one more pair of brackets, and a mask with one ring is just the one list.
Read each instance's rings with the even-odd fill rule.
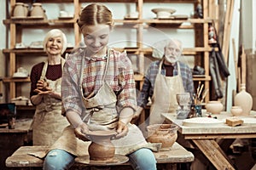
[[[85,109],[82,95],[94,96],[107,82],[117,96],[117,111],[124,107],[136,107],[136,88],[132,65],[126,53],[119,53],[113,49],[109,52],[109,65],[105,80],[103,74],[107,64],[107,56],[102,59],[84,57],[85,48],[81,48],[74,54],[69,54],[63,68],[61,95],[65,111],[74,111],[79,114]],[[81,69],[83,69],[83,81],[80,84]],[[81,92],[81,86],[83,92]],[[104,97],[104,96],[102,96]]]

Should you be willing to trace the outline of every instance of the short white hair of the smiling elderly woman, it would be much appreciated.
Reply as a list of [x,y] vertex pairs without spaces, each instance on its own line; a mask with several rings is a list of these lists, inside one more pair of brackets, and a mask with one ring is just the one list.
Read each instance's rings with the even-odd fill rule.
[[44,51],[46,51],[46,43],[48,42],[50,37],[58,37],[61,36],[62,38],[62,49],[61,49],[61,54],[63,54],[66,49],[67,49],[67,37],[66,35],[60,30],[60,29],[52,29],[48,31],[44,37]]

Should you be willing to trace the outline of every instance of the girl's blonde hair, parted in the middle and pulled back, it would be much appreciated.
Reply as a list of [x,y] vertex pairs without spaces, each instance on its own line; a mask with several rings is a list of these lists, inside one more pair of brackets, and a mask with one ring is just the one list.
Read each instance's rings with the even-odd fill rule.
[[83,8],[77,23],[80,29],[82,29],[83,26],[95,26],[97,24],[106,24],[112,27],[112,13],[101,3],[90,3]]

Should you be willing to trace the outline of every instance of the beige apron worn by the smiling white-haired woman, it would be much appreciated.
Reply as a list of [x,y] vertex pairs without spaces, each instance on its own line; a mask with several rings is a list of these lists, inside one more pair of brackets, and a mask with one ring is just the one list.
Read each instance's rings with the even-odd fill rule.
[[[65,59],[61,59],[61,67]],[[49,83],[49,88],[56,93],[61,93],[61,78],[51,81],[46,79],[48,61],[44,63],[41,79]],[[65,116],[61,115],[61,99],[55,99],[44,95],[42,102],[37,105],[32,122],[33,145],[51,145],[61,136],[61,133],[69,123]]]

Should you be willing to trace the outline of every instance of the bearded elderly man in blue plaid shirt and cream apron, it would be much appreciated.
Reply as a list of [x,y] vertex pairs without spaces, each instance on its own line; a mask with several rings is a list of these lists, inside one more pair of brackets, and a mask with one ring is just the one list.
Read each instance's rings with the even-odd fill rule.
[[143,89],[137,99],[138,109],[133,121],[148,104],[148,98],[152,100],[149,124],[158,124],[164,122],[161,113],[177,110],[177,93],[189,92],[191,96],[194,94],[192,72],[188,65],[178,60],[182,50],[182,42],[171,39],[166,43],[162,59],[149,65]]

